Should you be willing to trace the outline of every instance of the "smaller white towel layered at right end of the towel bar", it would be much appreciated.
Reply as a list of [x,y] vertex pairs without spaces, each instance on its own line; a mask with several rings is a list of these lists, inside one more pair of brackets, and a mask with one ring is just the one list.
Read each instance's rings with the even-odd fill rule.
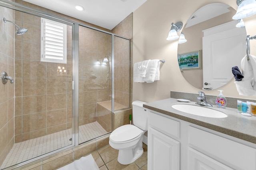
[[144,79],[147,83],[152,83],[155,80],[159,80],[159,68],[160,62],[159,60],[150,60],[147,68],[146,78]]

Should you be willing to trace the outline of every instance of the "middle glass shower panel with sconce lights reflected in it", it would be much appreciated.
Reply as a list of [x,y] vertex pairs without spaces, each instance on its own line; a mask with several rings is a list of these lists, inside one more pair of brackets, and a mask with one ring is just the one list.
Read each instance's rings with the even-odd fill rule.
[[112,131],[111,37],[79,26],[79,144]]

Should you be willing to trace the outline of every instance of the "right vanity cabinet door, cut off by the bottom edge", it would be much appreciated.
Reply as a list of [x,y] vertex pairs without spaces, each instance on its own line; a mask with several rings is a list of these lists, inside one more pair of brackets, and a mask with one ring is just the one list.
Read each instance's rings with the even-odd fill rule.
[[232,168],[202,154],[188,149],[188,170],[233,170]]

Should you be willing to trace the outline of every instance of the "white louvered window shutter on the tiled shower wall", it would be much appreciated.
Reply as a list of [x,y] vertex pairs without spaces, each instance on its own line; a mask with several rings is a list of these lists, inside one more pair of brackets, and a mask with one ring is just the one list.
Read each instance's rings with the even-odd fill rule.
[[41,61],[67,63],[67,26],[41,18]]

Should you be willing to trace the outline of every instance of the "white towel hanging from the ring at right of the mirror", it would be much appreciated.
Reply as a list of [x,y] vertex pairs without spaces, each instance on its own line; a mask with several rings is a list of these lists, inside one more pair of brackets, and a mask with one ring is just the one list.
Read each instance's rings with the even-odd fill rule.
[[236,89],[242,96],[256,96],[256,57],[249,55],[250,60],[245,56],[241,61],[242,81],[235,81]]

